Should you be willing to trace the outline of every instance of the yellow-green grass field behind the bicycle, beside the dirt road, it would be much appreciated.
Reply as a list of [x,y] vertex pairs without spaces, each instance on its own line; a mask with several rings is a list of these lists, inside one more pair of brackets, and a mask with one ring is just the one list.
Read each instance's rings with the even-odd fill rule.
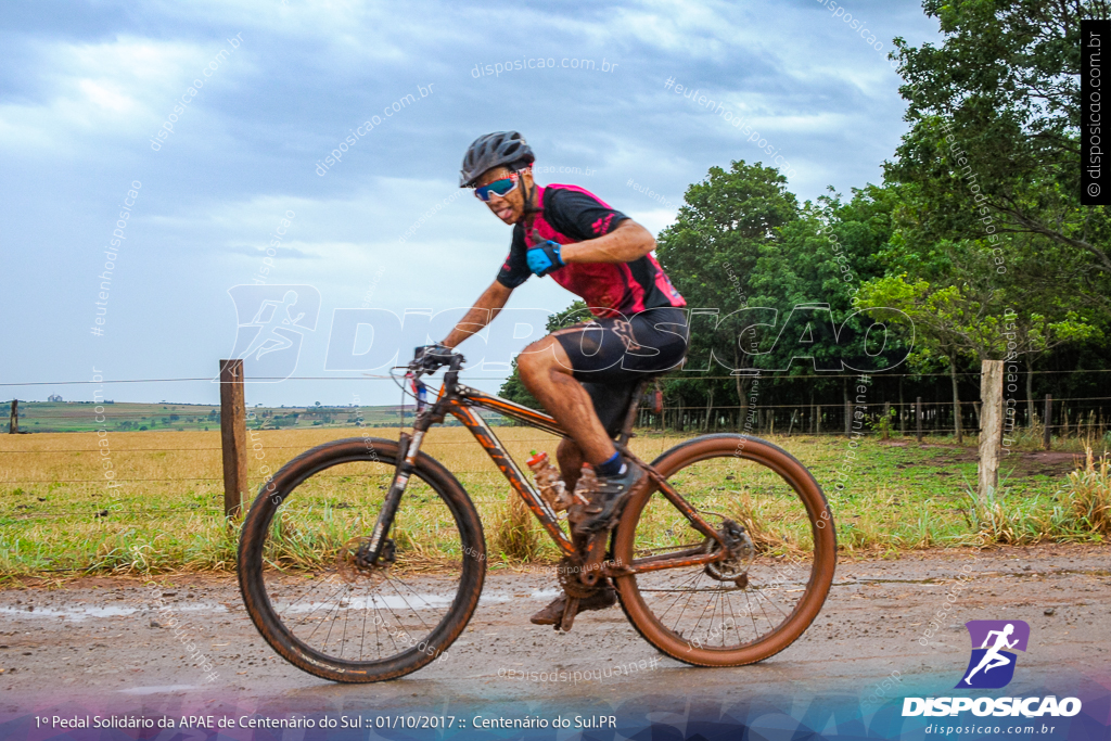
[[[397,433],[396,428],[371,431],[392,439]],[[262,448],[249,463],[252,491],[262,481],[261,467],[274,471],[312,445],[356,434],[352,429],[320,428],[259,432]],[[519,461],[531,448],[551,452],[557,443],[524,428],[499,428],[498,434]],[[633,448],[651,460],[681,439],[648,432]],[[98,440],[94,433],[0,435],[0,574],[233,568],[236,533],[222,518],[218,430],[109,432],[103,438],[107,447],[98,447]],[[850,453],[844,438],[772,441],[811,469],[830,500],[840,547],[850,553],[894,553],[984,539],[1099,542],[1107,534],[1107,471],[1102,479],[1098,470],[1092,472],[1094,483],[1089,481],[1088,488],[1094,487],[1095,493],[1089,492],[1083,502],[1078,503],[1075,487],[1067,487],[1067,474],[1082,457],[1015,453],[1004,461],[1002,494],[977,502],[967,492],[977,477],[972,447],[864,439]],[[457,474],[479,509],[488,543],[493,542],[507,519],[509,493],[494,465],[460,428],[433,429],[423,450]],[[775,488],[778,479],[740,461],[729,465],[692,472],[678,482],[680,490],[699,507],[759,515],[783,542],[804,537],[798,522],[788,522],[791,502],[785,487]],[[835,485],[838,471],[843,488]],[[108,473],[111,480],[104,478]],[[343,533],[360,531],[364,505],[381,497],[379,480],[387,473],[336,473],[307,491],[297,502],[300,509],[291,507],[303,518],[292,562],[312,567],[327,560]],[[444,508],[434,511],[436,501],[413,490],[406,504],[410,509],[403,510],[411,528],[408,534],[399,529],[399,545],[422,548],[424,535],[450,525]],[[657,524],[657,534],[670,533],[669,522]],[[437,547],[430,548],[428,554],[437,555]],[[546,537],[534,552],[541,561],[556,555]],[[491,565],[499,562],[491,552]]]

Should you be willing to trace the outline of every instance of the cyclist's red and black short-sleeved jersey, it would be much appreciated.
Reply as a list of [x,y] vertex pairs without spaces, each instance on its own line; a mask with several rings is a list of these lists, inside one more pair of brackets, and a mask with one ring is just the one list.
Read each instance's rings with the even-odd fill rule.
[[[537,187],[542,211],[513,227],[509,257],[498,282],[517,288],[531,276],[526,253],[534,244],[553,240],[560,244],[584,242],[608,234],[628,219],[588,190],[577,186]],[[557,283],[582,298],[597,317],[613,311],[632,317],[657,307],[685,307],[667,273],[651,253],[630,262],[572,262],[549,273]]]

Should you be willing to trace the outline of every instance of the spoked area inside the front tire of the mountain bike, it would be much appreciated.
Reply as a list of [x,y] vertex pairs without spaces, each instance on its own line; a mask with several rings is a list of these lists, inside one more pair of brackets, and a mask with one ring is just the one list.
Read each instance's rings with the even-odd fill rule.
[[[392,532],[403,534],[392,535],[397,539],[392,565],[370,570],[354,565],[357,545],[368,534],[367,523],[377,520],[384,497],[383,489],[368,490],[363,482],[387,482],[392,475],[392,463],[337,463],[320,479],[314,473],[286,492],[271,518],[262,570],[269,602],[290,639],[330,662],[367,665],[411,653],[421,641],[431,642],[457,602],[458,577],[426,579],[406,571],[410,559],[423,558],[430,548],[458,553],[464,547],[456,515],[419,475],[410,479],[394,517]],[[344,520],[336,508],[321,507],[321,500],[358,501],[358,517]],[[403,522],[416,527],[406,530]],[[327,540],[301,534],[314,531],[328,533]],[[419,549],[402,544],[424,533],[429,540],[418,541]],[[323,549],[316,578],[298,575],[297,564],[313,555],[308,548]]]

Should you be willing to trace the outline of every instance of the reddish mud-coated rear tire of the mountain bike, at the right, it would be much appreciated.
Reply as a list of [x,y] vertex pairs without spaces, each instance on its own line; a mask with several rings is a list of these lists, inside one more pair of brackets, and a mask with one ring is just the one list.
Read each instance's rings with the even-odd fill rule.
[[[741,444],[742,441],[743,444]],[[671,448],[659,455],[652,462],[652,467],[665,479],[670,479],[694,463],[724,457],[743,459],[770,469],[787,482],[805,508],[813,539],[813,559],[803,595],[791,613],[787,615],[787,619],[768,634],[758,635],[758,640],[733,649],[710,648],[702,645],[701,641],[694,645],[691,639],[684,638],[664,624],[661,617],[655,614],[655,611],[647,603],[641,593],[638,574],[627,574],[613,579],[621,609],[644,640],[679,661],[703,667],[739,667],[754,663],[779,653],[793,643],[818,617],[829,594],[837,564],[837,534],[825,495],[810,471],[785,450],[750,435],[709,434]],[[677,490],[680,494],[683,493],[681,487],[677,487]],[[657,501],[662,499],[662,494],[658,491],[654,485],[647,487],[634,494],[625,505],[612,540],[613,558],[619,564],[634,562],[637,528],[641,514],[653,494],[658,498]],[[670,502],[667,504],[674,510]],[[678,511],[675,510],[675,512]],[[691,532],[694,532],[693,529]],[[647,573],[661,574],[667,573],[667,571]],[[742,591],[743,589],[741,588]],[[778,589],[778,587],[773,589]],[[758,597],[758,603],[759,599]],[[752,614],[753,611],[750,608],[749,615]],[[757,627],[754,618],[753,627]],[[738,635],[740,635],[739,631]]]

